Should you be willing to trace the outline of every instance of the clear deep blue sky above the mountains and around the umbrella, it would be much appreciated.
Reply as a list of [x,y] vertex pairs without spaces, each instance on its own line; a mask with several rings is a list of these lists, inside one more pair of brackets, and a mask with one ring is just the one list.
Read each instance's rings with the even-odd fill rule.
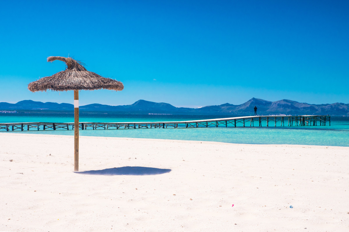
[[70,55],[125,86],[80,105],[349,103],[349,1],[2,1],[0,19],[0,102],[72,103],[27,89]]

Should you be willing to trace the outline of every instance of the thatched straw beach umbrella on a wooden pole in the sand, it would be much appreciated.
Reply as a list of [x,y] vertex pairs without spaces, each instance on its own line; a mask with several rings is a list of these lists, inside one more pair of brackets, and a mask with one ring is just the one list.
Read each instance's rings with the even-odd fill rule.
[[79,90],[110,89],[120,91],[124,89],[124,85],[120,81],[87,71],[83,63],[70,57],[47,57],[47,62],[55,60],[65,62],[66,70],[33,81],[29,83],[28,89],[32,92],[74,90],[74,171],[79,171]]

